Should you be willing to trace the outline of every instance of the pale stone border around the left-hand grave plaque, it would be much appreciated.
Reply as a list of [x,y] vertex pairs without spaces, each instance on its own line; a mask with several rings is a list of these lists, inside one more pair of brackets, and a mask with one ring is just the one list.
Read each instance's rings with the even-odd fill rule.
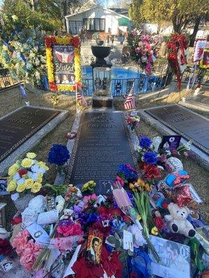
[[[16,111],[19,111],[22,109],[21,106],[20,108],[17,108],[10,113],[3,115],[1,119],[7,117],[8,115],[13,114]],[[56,115],[52,120],[50,120],[45,126],[43,126],[39,131],[37,131],[33,136],[31,136],[28,140],[26,140],[20,147],[15,149],[15,151],[10,154],[7,158],[5,158],[3,161],[0,163],[0,175],[6,174],[6,170],[8,170],[8,167],[13,165],[15,161],[17,161],[18,158],[23,157],[24,154],[29,152],[30,149],[33,147],[36,147],[40,140],[47,135],[50,131],[52,131],[60,122],[63,122],[65,120],[65,117],[68,116],[69,111],[62,110],[62,109],[54,109],[54,108],[47,108],[47,107],[40,107],[40,106],[31,106],[31,108],[38,108],[38,109],[45,109],[45,110],[51,110],[51,111],[60,111],[58,115]]]

